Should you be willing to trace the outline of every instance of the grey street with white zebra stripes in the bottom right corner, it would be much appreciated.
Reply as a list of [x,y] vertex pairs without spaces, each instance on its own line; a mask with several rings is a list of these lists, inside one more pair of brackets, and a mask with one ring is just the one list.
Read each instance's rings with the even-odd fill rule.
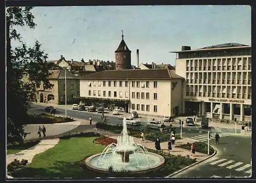
[[251,137],[229,135],[220,138],[220,144],[210,141],[217,154],[173,177],[244,177],[251,172]]

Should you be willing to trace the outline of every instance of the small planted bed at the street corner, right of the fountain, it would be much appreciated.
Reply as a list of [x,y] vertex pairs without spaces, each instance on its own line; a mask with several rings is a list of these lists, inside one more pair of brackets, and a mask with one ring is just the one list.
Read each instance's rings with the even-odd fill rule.
[[[183,149],[186,149],[186,150],[190,150],[191,149],[191,143],[181,144],[177,147],[183,148]],[[203,154],[208,153],[208,145],[203,143],[203,142],[195,142],[195,149],[196,149],[196,152],[200,152],[200,153],[203,153]],[[209,147],[209,154],[211,155],[213,153],[214,153],[214,148],[212,148],[210,146]]]

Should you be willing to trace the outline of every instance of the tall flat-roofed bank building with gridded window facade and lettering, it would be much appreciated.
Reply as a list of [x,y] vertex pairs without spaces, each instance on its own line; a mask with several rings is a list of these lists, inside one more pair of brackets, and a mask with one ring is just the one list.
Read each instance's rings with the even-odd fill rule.
[[251,120],[251,47],[212,45],[176,53],[176,74],[185,78],[183,113],[209,118]]

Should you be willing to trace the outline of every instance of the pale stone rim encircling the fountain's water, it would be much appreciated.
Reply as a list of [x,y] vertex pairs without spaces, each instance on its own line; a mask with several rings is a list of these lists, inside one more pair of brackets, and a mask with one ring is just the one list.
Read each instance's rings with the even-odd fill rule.
[[[137,152],[143,153],[142,151],[137,151]],[[113,152],[107,152],[106,154],[109,154],[109,153],[113,153]],[[153,167],[150,167],[150,168],[143,168],[143,169],[139,169],[139,170],[129,170],[127,173],[143,173],[143,172],[146,172],[146,171],[152,171],[156,168],[159,168],[160,166],[162,166],[164,164],[165,159],[164,159],[163,156],[161,156],[157,153],[154,153],[154,152],[147,152],[147,153],[159,157],[159,159],[160,159],[159,163],[157,165],[153,166]],[[101,153],[94,154],[94,155],[88,157],[86,159],[86,162],[85,162],[86,166],[89,169],[93,170],[93,171],[97,171],[97,172],[101,172],[101,173],[108,173],[108,170],[95,167],[90,163],[92,158],[94,158],[96,156],[99,156],[99,155],[101,155]]]

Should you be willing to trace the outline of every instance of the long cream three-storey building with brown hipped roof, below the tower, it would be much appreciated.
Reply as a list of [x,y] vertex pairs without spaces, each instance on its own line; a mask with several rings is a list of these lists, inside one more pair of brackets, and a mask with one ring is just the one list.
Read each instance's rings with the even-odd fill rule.
[[102,71],[80,78],[80,99],[86,105],[165,116],[182,113],[184,78],[174,70]]

